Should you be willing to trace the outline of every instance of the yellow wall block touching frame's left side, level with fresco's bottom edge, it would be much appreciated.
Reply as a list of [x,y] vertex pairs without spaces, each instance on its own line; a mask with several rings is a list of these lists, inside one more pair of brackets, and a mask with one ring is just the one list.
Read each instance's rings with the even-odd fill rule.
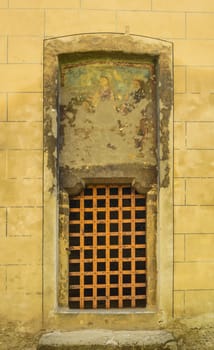
[[8,178],[41,178],[42,151],[8,151]]

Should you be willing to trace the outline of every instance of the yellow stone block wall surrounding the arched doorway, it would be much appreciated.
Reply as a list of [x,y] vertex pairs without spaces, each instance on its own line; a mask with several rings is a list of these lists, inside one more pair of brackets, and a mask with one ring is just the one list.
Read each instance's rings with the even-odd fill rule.
[[214,312],[214,1],[0,0],[0,316],[42,324],[43,39],[174,43],[174,312]]

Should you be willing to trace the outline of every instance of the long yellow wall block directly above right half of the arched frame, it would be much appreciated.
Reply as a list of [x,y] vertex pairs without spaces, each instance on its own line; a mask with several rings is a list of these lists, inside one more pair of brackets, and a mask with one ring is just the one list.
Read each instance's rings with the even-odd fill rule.
[[124,32],[129,25],[131,32],[164,38],[185,37],[185,17],[181,13],[132,12],[118,13],[118,31]]

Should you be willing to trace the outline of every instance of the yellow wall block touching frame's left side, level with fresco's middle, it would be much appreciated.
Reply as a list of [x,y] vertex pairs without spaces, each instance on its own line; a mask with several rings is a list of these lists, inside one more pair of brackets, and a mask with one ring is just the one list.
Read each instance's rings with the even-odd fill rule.
[[[1,98],[1,95],[0,95]],[[11,93],[8,95],[9,121],[42,121],[41,93]]]

